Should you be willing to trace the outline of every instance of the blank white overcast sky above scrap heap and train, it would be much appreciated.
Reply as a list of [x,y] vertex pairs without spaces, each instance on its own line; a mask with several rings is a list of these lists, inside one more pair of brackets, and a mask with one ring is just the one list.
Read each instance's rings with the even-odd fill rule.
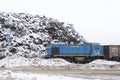
[[120,44],[120,0],[0,0],[0,10],[45,15],[74,24],[89,42]]

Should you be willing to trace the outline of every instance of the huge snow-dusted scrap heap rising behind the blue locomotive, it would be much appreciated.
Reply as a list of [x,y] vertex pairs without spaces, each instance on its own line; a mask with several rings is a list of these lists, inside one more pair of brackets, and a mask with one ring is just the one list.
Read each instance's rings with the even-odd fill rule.
[[[6,35],[9,35],[7,43]],[[65,43],[69,39],[84,42],[84,38],[72,25],[57,19],[25,13],[0,12],[0,57],[14,54],[41,57],[46,54],[48,43]]]

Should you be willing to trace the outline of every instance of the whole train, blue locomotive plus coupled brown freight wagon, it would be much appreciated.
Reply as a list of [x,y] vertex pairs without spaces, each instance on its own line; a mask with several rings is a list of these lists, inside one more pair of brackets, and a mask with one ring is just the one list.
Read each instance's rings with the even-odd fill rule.
[[120,61],[120,45],[49,44],[46,58],[63,58],[70,62],[90,62],[94,59]]

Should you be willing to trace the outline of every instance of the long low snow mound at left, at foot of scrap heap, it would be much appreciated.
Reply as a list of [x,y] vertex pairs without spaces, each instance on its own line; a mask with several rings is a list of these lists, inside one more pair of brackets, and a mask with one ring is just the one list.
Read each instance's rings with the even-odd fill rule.
[[40,59],[40,58],[25,58],[14,55],[0,60],[0,67],[13,68],[22,66],[65,66],[71,63],[63,59]]

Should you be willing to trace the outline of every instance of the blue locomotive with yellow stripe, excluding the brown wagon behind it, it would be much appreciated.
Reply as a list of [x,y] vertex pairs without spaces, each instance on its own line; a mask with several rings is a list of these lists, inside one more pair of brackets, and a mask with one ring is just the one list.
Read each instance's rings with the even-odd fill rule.
[[63,58],[70,62],[90,62],[104,58],[103,46],[99,43],[76,44],[49,44],[46,58]]

